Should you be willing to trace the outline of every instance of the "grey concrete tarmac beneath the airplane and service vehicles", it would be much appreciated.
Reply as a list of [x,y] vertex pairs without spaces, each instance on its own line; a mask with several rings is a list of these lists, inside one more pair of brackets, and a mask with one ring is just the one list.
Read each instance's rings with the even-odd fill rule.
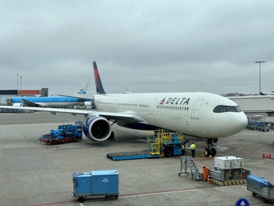
[[[218,186],[191,180],[181,175],[180,157],[112,161],[107,153],[147,149],[146,131],[113,125],[115,140],[83,140],[59,145],[40,144],[38,137],[60,124],[84,120],[81,115],[51,115],[48,112],[0,114],[0,206],[234,206],[245,197],[251,205],[261,206],[262,198],[253,197],[246,185]],[[274,117],[268,117],[268,121]],[[203,139],[184,136],[197,146],[195,162],[212,167],[213,158],[202,157]],[[263,159],[263,152],[274,155],[274,130],[261,132],[244,129],[220,138],[217,156],[244,158],[244,168],[253,175],[274,183],[274,159]],[[190,155],[189,145],[186,155]],[[118,170],[119,198],[91,197],[84,203],[71,197],[72,174],[95,170]],[[270,202],[271,205],[274,204]]]

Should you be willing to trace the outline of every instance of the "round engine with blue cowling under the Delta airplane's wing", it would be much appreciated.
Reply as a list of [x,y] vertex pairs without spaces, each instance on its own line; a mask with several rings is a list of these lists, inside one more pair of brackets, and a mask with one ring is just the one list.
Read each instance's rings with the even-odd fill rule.
[[91,117],[84,122],[83,132],[90,140],[104,141],[111,135],[111,124],[104,117]]

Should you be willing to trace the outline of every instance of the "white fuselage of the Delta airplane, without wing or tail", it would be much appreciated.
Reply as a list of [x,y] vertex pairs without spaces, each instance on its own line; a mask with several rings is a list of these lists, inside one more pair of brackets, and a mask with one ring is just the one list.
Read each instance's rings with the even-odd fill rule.
[[246,115],[235,102],[212,93],[97,94],[94,103],[100,111],[136,113],[144,122],[125,124],[134,129],[146,124],[197,137],[220,138],[234,135],[247,125]]

